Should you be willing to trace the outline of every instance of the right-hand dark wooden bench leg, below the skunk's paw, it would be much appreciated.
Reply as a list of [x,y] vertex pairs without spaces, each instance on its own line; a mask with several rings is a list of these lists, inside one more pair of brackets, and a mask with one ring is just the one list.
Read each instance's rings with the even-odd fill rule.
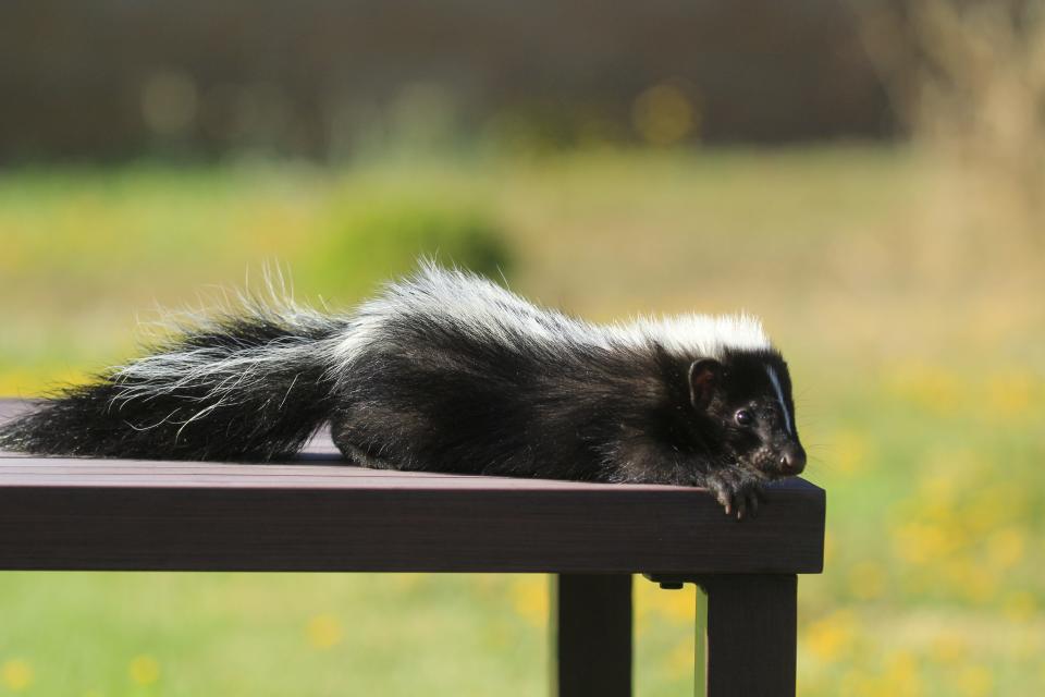
[[705,576],[700,586],[708,596],[706,656],[697,656],[697,675],[703,662],[706,697],[794,697],[797,577]]

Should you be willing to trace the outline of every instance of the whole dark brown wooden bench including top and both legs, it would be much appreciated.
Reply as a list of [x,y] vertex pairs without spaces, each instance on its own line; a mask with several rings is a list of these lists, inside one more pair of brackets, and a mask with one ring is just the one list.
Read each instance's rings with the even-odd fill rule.
[[769,498],[738,523],[683,487],[364,469],[325,436],[266,465],[0,453],[0,570],[555,574],[561,697],[631,694],[647,574],[703,589],[708,695],[794,695],[796,574],[822,570],[825,498],[801,479]]

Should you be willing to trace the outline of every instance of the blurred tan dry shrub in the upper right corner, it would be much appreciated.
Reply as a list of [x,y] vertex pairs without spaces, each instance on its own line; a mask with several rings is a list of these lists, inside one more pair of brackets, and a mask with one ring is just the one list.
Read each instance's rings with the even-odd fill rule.
[[922,197],[922,254],[945,268],[963,265],[961,284],[964,272],[989,262],[1037,258],[1045,230],[1045,2],[923,0],[860,10],[895,111],[936,166]]

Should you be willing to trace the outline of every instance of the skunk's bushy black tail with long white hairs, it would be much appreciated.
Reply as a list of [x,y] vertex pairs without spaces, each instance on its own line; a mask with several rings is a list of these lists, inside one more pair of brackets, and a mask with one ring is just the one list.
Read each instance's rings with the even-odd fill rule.
[[344,325],[248,301],[194,320],[142,358],[0,426],[0,448],[48,455],[260,460],[296,453],[330,415]]

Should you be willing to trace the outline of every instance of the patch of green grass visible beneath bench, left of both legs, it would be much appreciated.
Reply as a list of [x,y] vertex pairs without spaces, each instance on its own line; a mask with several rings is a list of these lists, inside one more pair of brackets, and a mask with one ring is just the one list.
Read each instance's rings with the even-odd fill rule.
[[[512,583],[4,574],[0,656],[32,667],[29,694],[485,694],[508,684],[537,695],[543,635],[503,601]],[[155,683],[132,673],[142,657],[158,665]]]

